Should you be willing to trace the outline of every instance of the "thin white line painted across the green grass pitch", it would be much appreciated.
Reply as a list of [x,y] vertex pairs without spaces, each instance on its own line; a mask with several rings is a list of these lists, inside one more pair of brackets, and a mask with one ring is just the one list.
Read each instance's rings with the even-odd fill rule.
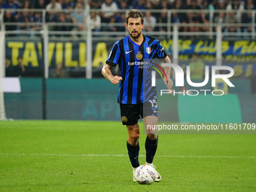
[[[17,156],[78,156],[78,157],[127,157],[127,154],[2,154],[17,155]],[[145,157],[145,155],[139,155]],[[256,157],[241,157],[241,156],[197,156],[197,155],[157,155],[157,157],[172,157],[172,158],[224,158],[224,159],[256,159]]]

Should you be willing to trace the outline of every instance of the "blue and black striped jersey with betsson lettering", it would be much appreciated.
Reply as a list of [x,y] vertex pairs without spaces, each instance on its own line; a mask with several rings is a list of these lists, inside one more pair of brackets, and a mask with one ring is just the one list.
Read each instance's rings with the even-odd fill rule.
[[142,44],[136,44],[130,35],[114,43],[106,63],[119,66],[120,81],[117,101],[121,104],[139,104],[156,96],[156,87],[151,87],[152,61],[164,59],[166,51],[160,41],[143,35]]

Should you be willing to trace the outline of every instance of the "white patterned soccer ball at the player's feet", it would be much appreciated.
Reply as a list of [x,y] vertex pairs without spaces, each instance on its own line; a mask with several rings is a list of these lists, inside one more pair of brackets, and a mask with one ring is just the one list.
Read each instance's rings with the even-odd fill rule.
[[139,184],[151,184],[156,178],[156,173],[151,166],[142,165],[136,169],[134,178]]

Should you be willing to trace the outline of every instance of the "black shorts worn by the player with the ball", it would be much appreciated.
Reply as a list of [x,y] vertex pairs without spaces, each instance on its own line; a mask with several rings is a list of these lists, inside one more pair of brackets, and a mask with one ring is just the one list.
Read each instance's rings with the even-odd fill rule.
[[139,104],[120,104],[120,112],[123,125],[135,125],[140,118],[158,117],[157,100],[151,99]]

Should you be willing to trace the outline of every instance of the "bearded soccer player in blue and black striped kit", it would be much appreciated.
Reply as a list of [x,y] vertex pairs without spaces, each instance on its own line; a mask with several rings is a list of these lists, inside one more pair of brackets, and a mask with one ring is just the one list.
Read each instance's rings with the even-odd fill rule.
[[[115,42],[105,65],[102,75],[112,84],[119,84],[118,102],[123,125],[128,131],[126,142],[130,162],[133,166],[133,181],[136,168],[139,166],[139,124],[142,117],[145,127],[156,126],[158,120],[156,87],[151,86],[151,69],[148,59],[163,59],[170,62],[160,41],[149,35],[142,34],[144,23],[143,14],[138,10],[131,10],[126,16],[126,28],[129,35]],[[113,66],[119,66],[120,76],[111,73]],[[146,69],[146,70],[145,70]],[[168,89],[172,88],[171,68],[166,67],[166,78],[163,79]],[[157,130],[146,129],[145,141],[146,164],[154,168],[153,159],[157,151]],[[154,169],[155,170],[155,169]],[[156,172],[155,181],[161,181]]]

